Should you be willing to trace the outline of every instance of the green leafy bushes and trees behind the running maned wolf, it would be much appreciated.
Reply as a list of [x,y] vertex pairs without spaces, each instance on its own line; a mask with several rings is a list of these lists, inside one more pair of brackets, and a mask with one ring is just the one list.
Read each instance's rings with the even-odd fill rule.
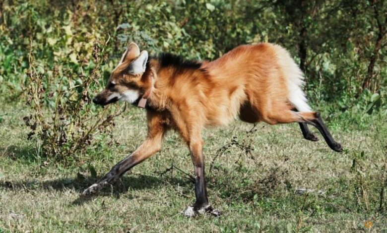
[[[1,98],[30,103],[40,80],[35,104],[51,114],[58,103],[89,103],[130,41],[153,55],[193,59],[218,58],[246,43],[277,43],[300,63],[309,99],[329,116],[361,124],[366,112],[387,113],[383,0],[2,0],[0,7]],[[89,108],[64,117],[91,117],[95,108]]]

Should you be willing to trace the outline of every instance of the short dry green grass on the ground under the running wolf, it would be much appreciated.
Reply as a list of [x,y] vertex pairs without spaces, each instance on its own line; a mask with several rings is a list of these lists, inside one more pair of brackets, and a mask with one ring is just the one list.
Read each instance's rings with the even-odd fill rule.
[[[345,148],[341,154],[320,134],[319,142],[304,140],[297,124],[260,123],[246,133],[253,125],[237,120],[206,130],[208,194],[223,215],[191,219],[180,212],[194,202],[187,175],[193,166],[175,133],[117,185],[79,196],[141,143],[143,110],[131,107],[116,119],[117,144],[96,145],[60,163],[41,157],[39,146],[26,140],[26,111],[21,104],[0,107],[0,233],[387,231],[387,191],[380,208],[385,118],[366,118],[362,130],[331,119],[332,134]],[[90,166],[98,177],[90,175]]]

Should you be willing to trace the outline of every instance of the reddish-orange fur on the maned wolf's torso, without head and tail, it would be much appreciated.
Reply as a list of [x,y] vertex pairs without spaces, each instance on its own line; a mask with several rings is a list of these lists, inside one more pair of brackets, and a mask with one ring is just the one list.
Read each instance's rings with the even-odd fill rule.
[[237,115],[247,122],[269,124],[311,119],[312,113],[292,111],[285,76],[274,53],[270,44],[240,46],[204,62],[202,69],[178,74],[174,67],[160,68],[156,59],[151,60],[157,77],[149,105],[167,110],[187,142],[203,126],[224,125]]

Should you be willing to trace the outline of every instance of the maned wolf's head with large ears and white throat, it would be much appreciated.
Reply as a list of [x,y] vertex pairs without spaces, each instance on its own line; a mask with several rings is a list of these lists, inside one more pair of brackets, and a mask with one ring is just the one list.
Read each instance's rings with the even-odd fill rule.
[[120,63],[112,71],[104,90],[93,102],[107,105],[119,100],[134,103],[149,92],[152,82],[149,72],[145,72],[148,52],[142,51],[135,43],[130,43]]

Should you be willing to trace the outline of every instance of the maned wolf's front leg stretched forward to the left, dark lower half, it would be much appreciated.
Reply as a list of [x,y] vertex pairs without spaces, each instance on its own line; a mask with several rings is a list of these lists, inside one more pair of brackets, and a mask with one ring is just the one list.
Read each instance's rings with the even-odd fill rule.
[[82,194],[91,195],[98,192],[104,186],[117,181],[132,167],[158,152],[161,149],[165,130],[162,121],[152,118],[149,119],[148,116],[148,136],[146,140],[131,155],[116,164],[112,170],[98,182],[85,189]]

